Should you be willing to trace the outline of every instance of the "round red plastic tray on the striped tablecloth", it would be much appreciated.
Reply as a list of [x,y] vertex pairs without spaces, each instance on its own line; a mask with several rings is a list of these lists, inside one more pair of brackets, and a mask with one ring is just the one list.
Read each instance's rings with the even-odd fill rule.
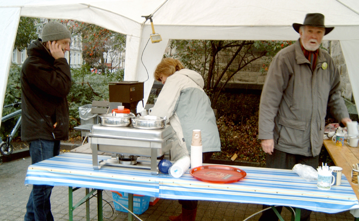
[[222,165],[195,167],[190,170],[190,173],[198,180],[216,184],[234,183],[247,175],[247,173],[241,169]]

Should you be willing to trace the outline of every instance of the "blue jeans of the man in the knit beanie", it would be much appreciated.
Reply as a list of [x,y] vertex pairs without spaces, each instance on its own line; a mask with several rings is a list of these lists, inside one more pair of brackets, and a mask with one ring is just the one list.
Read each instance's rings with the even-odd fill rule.
[[[29,143],[31,163],[57,156],[60,152],[59,140],[33,140]],[[50,196],[53,186],[33,185],[29,201],[26,205],[25,221],[53,221]]]

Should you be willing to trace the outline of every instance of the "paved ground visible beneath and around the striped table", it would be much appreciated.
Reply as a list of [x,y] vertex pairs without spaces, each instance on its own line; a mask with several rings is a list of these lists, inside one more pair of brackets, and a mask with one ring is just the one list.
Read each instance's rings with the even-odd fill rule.
[[[0,220],[3,221],[22,221],[26,213],[26,204],[32,186],[25,186],[24,180],[28,166],[31,165],[29,156],[14,159],[0,164]],[[81,188],[74,192],[74,204],[85,196],[85,189]],[[127,213],[114,210],[112,193],[105,190],[103,192],[103,211],[104,221],[125,221],[128,220]],[[105,201],[106,200],[106,201]],[[68,187],[55,186],[51,195],[51,210],[55,221],[69,220],[68,210]],[[213,201],[198,201],[197,221],[230,221],[245,220],[250,215],[262,210],[262,205],[240,204]],[[163,220],[166,221],[170,215],[181,213],[181,205],[177,200],[159,199],[158,202],[149,206],[148,210],[139,215],[144,221]],[[74,210],[73,220],[86,220],[85,204]],[[247,220],[258,220],[261,213],[254,215]],[[283,209],[284,220],[290,219],[290,212]],[[97,199],[96,196],[90,199],[90,220],[97,220]],[[135,219],[137,220],[137,219]],[[311,221],[349,221],[354,217],[349,211],[327,214],[312,212]]]

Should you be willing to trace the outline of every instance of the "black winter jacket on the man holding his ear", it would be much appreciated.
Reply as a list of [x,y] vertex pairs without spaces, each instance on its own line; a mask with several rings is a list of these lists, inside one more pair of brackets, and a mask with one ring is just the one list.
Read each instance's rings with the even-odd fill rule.
[[66,58],[55,60],[41,44],[41,39],[30,44],[27,54],[21,71],[21,138],[26,142],[67,140],[69,107],[66,96],[71,88],[70,66]]

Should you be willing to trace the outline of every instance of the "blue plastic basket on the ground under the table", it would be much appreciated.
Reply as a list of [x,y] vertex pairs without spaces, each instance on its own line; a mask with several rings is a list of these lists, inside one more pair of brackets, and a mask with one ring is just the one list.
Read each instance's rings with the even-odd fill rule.
[[[115,210],[121,212],[128,212],[121,205],[122,204],[128,209],[128,193],[124,192],[112,192],[113,204],[115,206]],[[122,196],[121,196],[122,195]],[[148,205],[150,204],[150,196],[142,196],[142,195],[133,195],[133,213],[141,215],[148,209]],[[117,203],[118,202],[118,203]]]

